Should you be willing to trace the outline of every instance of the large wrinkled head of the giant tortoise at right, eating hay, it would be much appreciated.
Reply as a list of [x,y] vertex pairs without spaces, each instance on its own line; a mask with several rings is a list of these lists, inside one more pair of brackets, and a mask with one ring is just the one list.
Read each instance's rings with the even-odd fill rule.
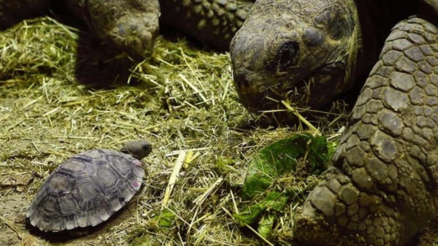
[[230,46],[241,102],[321,107],[351,87],[359,36],[352,0],[258,0]]

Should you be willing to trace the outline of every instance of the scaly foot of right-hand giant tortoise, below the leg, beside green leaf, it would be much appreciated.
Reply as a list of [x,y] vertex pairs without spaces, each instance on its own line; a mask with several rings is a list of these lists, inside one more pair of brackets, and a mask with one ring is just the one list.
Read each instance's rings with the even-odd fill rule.
[[[296,218],[294,235],[306,245],[399,245],[399,213],[378,195],[360,192],[352,180],[332,167],[309,194]],[[408,236],[409,237],[409,236]]]

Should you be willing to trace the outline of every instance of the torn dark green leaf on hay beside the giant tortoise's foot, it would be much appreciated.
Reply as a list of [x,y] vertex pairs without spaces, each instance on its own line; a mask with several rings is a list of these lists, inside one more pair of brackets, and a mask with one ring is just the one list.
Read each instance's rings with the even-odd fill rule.
[[234,214],[234,218],[241,225],[258,224],[258,233],[265,238],[270,236],[277,221],[277,213],[283,212],[291,190],[276,191],[268,188],[275,180],[295,171],[299,159],[308,163],[307,172],[322,173],[335,148],[336,145],[328,145],[325,137],[308,133],[294,135],[263,148],[249,163],[241,194],[243,200],[252,201],[242,212]]

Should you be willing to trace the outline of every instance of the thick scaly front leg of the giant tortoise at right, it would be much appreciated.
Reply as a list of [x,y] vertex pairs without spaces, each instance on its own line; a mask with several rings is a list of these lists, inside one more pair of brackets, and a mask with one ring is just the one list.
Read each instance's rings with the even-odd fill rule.
[[402,246],[438,208],[438,29],[396,25],[371,71],[334,166],[294,235],[306,245]]

